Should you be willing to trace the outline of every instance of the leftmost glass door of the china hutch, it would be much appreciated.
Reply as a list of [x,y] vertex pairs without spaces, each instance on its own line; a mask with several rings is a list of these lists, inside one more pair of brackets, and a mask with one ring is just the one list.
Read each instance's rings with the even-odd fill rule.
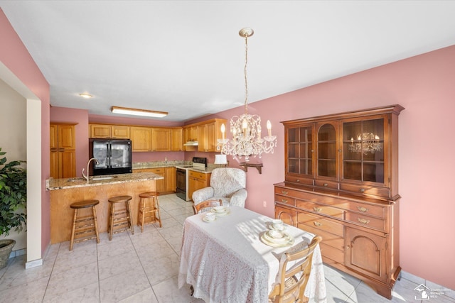
[[313,127],[296,127],[287,130],[287,172],[313,175]]

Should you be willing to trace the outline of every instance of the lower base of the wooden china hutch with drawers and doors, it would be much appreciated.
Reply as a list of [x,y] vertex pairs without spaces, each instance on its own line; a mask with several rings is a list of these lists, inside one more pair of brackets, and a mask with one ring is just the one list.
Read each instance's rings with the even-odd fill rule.
[[322,236],[323,262],[392,298],[400,275],[399,199],[274,184],[275,217]]

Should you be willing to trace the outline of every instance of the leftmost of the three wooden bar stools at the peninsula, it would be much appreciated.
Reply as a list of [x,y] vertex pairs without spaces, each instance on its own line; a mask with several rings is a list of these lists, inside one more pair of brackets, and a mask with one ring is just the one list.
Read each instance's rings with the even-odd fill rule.
[[[100,235],[98,234],[97,211],[95,206],[100,204],[98,200],[82,200],[74,202],[70,205],[74,209],[73,231],[71,231],[70,251],[73,250],[73,244],[79,243],[93,238],[100,243]],[[80,215],[80,209],[92,208],[92,213],[87,216]]]

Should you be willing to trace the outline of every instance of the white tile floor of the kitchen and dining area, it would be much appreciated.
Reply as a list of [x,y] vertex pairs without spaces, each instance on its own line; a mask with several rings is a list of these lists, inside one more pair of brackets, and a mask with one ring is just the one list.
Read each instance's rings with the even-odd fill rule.
[[[159,198],[162,228],[146,226],[144,233],[118,233],[112,241],[102,233],[101,243],[69,242],[50,246],[43,265],[25,270],[25,255],[9,259],[0,270],[0,302],[150,302],[189,303],[189,287],[177,288],[183,221],[193,214],[191,202],[175,194]],[[328,266],[327,302],[390,302],[360,280]],[[414,288],[423,284],[434,293],[419,298]],[[432,295],[432,294],[430,294]],[[455,292],[406,274],[397,281],[391,302],[455,302]]]

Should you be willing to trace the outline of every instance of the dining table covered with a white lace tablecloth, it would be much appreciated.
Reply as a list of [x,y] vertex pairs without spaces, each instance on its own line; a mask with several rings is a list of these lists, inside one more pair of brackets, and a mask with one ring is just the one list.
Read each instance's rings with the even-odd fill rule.
[[[178,288],[190,285],[193,297],[206,303],[268,302],[281,255],[294,246],[304,246],[302,242],[309,244],[315,235],[284,224],[292,241],[274,245],[264,241],[272,218],[239,206],[226,210],[213,221],[207,221],[204,213],[185,220]],[[326,302],[319,245],[314,250],[305,296],[309,302]]]

